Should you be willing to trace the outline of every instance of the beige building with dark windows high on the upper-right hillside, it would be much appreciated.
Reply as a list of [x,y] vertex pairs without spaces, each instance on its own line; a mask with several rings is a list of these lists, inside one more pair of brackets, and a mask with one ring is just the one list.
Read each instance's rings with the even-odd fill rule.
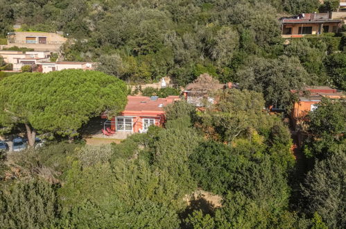
[[331,19],[329,13],[302,14],[282,19],[282,37],[302,37],[322,33],[337,33],[341,19]]

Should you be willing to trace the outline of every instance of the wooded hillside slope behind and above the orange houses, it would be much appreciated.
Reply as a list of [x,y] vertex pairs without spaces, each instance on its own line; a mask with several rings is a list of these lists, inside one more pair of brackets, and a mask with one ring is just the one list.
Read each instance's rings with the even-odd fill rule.
[[[168,75],[186,85],[207,72],[258,92],[265,90],[258,85],[345,88],[343,28],[286,45],[280,37],[279,17],[322,8],[318,0],[1,0],[0,33],[13,24],[63,31],[71,38],[66,60],[101,62],[101,71],[135,83]],[[286,80],[277,85],[280,74]]]

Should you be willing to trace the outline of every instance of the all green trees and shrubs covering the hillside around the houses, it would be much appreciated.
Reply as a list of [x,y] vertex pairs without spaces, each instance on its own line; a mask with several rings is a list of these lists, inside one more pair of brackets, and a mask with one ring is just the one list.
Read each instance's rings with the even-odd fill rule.
[[[15,24],[62,31],[64,59],[103,72],[0,80],[0,130],[30,123],[51,140],[0,155],[0,228],[345,228],[345,101],[309,114],[300,158],[288,122],[263,111],[290,107],[290,90],[305,85],[346,89],[345,27],[281,38],[280,17],[335,7],[326,2],[0,0],[0,37]],[[123,81],[171,76],[178,87],[205,73],[239,89],[215,92],[202,111],[168,105],[165,128],[120,144],[78,138],[89,119],[124,107]]]

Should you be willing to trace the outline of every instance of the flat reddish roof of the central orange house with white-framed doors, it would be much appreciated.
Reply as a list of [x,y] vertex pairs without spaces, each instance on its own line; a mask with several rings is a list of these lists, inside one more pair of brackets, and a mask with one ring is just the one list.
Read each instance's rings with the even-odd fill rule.
[[164,106],[178,101],[179,96],[168,96],[156,100],[146,96],[128,96],[128,104],[123,112],[159,112],[164,111]]

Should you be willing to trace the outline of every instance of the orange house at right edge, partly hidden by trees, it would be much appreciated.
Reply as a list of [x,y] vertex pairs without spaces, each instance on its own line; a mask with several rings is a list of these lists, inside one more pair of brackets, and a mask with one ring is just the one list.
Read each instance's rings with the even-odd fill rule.
[[292,93],[297,93],[299,95],[299,99],[295,102],[291,113],[294,124],[304,121],[306,114],[317,108],[317,104],[320,103],[322,97],[328,97],[330,99],[341,99],[345,97],[345,94],[342,92],[338,92],[336,89],[326,86],[306,87],[303,91],[308,91],[310,94],[304,95],[302,92],[291,90]]

